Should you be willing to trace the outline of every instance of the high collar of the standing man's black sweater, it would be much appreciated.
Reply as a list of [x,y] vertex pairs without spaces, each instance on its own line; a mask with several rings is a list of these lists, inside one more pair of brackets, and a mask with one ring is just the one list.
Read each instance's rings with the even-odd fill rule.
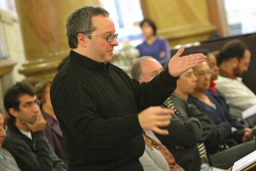
[[82,56],[82,54],[79,54],[77,52],[74,52],[71,50],[69,54],[69,59],[71,62],[77,63],[80,66],[96,70],[96,71],[105,71],[109,73],[110,64],[104,64],[103,62],[96,62],[92,59]]

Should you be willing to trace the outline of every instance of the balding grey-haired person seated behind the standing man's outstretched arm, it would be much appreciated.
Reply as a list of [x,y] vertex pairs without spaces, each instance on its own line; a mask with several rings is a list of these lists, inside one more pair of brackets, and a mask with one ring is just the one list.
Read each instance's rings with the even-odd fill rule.
[[[145,64],[142,64],[144,62]],[[149,82],[162,71],[162,65],[152,57],[137,59],[131,69],[132,77],[140,81],[140,83],[141,81]],[[153,132],[144,131],[143,136],[145,140],[145,151],[139,160],[144,170],[182,170],[175,162],[173,155],[155,137]]]

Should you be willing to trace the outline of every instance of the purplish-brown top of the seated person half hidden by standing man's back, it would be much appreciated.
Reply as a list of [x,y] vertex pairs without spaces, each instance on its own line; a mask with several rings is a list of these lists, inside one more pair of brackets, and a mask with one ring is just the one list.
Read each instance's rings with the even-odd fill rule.
[[46,120],[46,129],[44,132],[46,133],[46,138],[51,145],[54,153],[63,160],[66,167],[68,167],[68,158],[66,153],[66,148],[64,147],[64,138],[59,128],[58,120],[51,117],[51,115],[45,113],[42,110],[42,115],[44,120]]

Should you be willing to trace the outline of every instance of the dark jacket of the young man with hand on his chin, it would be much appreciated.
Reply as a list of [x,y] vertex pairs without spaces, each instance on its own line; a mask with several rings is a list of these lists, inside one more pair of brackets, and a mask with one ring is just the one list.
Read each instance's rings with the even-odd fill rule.
[[7,136],[2,145],[13,155],[21,170],[66,170],[63,161],[49,146],[43,131],[31,132],[31,140],[18,130],[12,118],[8,119],[7,125]]

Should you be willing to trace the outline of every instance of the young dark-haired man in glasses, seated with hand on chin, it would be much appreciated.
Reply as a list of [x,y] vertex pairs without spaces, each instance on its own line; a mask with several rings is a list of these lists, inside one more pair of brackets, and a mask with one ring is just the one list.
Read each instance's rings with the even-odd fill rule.
[[13,155],[18,167],[21,170],[66,170],[45,137],[46,121],[33,87],[17,82],[8,88],[4,107],[10,118],[3,148]]

